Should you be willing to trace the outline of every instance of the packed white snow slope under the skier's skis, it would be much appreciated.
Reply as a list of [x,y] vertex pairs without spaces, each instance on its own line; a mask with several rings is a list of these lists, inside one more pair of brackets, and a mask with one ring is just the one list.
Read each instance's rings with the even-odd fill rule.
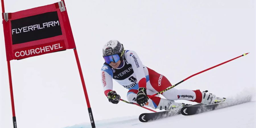
[[[138,116],[118,117],[96,121],[97,128],[170,128],[170,127],[236,127],[255,128],[256,102],[251,101],[253,94],[238,94],[229,97],[225,105],[216,110],[197,115],[175,115],[147,123],[139,121]],[[83,123],[65,128],[90,128],[90,123]]]

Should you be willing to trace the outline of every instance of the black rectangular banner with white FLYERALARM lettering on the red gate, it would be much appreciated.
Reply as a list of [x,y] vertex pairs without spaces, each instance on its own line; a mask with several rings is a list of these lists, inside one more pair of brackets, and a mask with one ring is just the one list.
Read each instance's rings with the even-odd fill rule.
[[57,11],[12,20],[11,26],[13,44],[62,35]]

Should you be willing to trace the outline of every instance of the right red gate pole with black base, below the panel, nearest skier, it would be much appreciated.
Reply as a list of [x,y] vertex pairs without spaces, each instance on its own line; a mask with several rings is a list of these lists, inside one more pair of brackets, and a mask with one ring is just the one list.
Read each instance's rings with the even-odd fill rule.
[[81,65],[80,65],[80,61],[79,61],[79,58],[78,58],[76,48],[74,48],[74,53],[75,53],[75,57],[76,57],[76,61],[77,61],[77,67],[78,67],[78,70],[79,70],[82,86],[83,86],[83,89],[84,89],[84,96],[85,96],[85,100],[86,100],[87,107],[88,107],[88,112],[89,112],[89,116],[90,116],[91,125],[92,125],[92,128],[95,128],[95,123],[94,123],[94,119],[93,119],[93,115],[92,115],[92,109],[91,109],[88,94],[87,94],[87,91],[86,91],[86,86],[85,86],[85,83],[84,83],[84,76],[83,76],[83,73],[82,73],[82,69],[81,69]]

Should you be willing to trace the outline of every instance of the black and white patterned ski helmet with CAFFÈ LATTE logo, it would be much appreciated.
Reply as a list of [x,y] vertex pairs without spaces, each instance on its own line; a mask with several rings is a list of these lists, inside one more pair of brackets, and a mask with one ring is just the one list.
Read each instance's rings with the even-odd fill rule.
[[115,55],[118,54],[120,59],[124,59],[124,48],[123,44],[121,44],[117,40],[110,40],[107,42],[102,49],[103,57],[109,56],[109,55]]

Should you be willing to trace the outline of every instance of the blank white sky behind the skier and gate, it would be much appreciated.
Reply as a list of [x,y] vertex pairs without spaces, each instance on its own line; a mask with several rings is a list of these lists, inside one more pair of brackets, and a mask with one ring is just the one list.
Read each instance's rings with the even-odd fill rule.
[[[16,12],[57,0],[5,0]],[[255,88],[254,0],[66,0],[95,120],[140,115],[148,110],[111,104],[103,93],[102,46],[119,40],[143,64],[172,84],[243,53],[241,57],[183,82],[177,89],[232,96]],[[0,26],[0,127],[12,128],[7,62]],[[61,128],[89,122],[72,49],[11,61],[18,128]],[[126,100],[127,89],[114,82]],[[97,121],[96,121],[97,126]]]

